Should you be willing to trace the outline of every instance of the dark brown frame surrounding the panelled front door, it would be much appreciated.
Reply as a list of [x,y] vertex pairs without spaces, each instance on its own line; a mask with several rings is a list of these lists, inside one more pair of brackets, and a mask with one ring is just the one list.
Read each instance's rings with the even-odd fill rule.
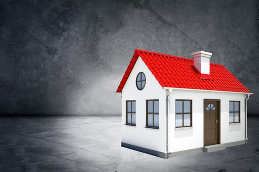
[[221,100],[220,99],[203,99],[203,146],[205,146],[205,102],[206,101],[216,101],[217,102],[217,116],[218,116],[218,143],[221,143]]

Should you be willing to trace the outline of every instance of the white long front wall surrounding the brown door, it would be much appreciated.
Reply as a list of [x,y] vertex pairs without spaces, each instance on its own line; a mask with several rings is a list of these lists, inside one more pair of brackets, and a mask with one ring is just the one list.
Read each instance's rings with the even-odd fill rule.
[[[175,130],[175,100],[192,100],[192,128]],[[203,101],[221,100],[221,143],[245,140],[245,94],[173,90],[170,97],[169,152],[203,147]],[[240,123],[229,125],[229,100],[240,101]]]

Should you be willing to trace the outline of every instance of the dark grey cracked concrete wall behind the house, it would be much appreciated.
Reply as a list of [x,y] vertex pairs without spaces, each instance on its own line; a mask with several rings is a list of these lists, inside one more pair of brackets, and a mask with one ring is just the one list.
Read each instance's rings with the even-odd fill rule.
[[1,115],[120,115],[114,94],[135,48],[204,50],[254,95],[259,0],[0,1]]

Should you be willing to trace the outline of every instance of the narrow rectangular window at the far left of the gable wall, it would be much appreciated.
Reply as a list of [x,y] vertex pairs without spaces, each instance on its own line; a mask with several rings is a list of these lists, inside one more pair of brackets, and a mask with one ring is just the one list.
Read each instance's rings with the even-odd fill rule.
[[126,101],[126,124],[136,125],[136,101]]

